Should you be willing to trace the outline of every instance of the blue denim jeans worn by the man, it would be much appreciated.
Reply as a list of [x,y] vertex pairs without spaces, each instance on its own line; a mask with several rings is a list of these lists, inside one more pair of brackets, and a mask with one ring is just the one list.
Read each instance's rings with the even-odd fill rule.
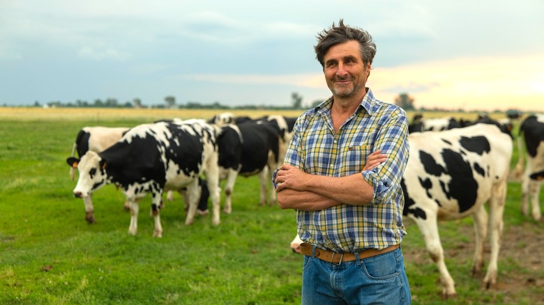
[[304,256],[302,304],[411,304],[401,249],[340,265]]

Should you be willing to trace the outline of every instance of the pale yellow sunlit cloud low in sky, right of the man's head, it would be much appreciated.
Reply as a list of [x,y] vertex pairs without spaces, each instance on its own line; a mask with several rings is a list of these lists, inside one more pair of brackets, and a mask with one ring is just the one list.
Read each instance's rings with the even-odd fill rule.
[[468,57],[375,68],[368,84],[389,101],[410,93],[417,107],[542,109],[542,71],[541,53]]

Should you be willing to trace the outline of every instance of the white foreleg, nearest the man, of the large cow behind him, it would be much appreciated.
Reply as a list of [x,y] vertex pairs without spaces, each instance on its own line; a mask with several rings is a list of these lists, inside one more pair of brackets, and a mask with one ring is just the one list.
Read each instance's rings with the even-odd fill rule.
[[437,215],[434,212],[426,212],[427,219],[414,218],[418,228],[425,240],[425,246],[432,260],[437,263],[438,271],[440,272],[440,281],[442,283],[442,297],[448,299],[456,297],[455,281],[448,272],[446,263],[444,263],[444,249],[440,242],[438,233]]

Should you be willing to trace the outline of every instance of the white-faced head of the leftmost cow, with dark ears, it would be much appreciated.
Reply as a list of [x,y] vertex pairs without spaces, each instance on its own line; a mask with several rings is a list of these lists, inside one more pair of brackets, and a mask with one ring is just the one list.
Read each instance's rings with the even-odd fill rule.
[[84,198],[107,184],[107,162],[98,153],[89,150],[81,159],[68,157],[66,162],[80,171],[80,178],[73,191],[74,196]]

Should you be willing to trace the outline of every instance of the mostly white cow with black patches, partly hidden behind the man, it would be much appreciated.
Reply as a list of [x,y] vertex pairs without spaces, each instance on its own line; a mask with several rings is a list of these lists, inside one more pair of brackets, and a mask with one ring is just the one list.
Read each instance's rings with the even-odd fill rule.
[[[444,263],[439,219],[462,219],[469,215],[474,219],[474,275],[482,271],[483,242],[489,228],[491,259],[483,279],[489,288],[497,282],[511,137],[495,125],[477,124],[441,132],[416,132],[409,134],[408,139],[410,157],[401,181],[405,194],[403,215],[414,219],[427,251],[437,263],[442,295],[455,297],[457,292]],[[490,210],[489,226],[486,202]],[[297,237],[291,244],[293,251],[297,251],[301,242]]]

